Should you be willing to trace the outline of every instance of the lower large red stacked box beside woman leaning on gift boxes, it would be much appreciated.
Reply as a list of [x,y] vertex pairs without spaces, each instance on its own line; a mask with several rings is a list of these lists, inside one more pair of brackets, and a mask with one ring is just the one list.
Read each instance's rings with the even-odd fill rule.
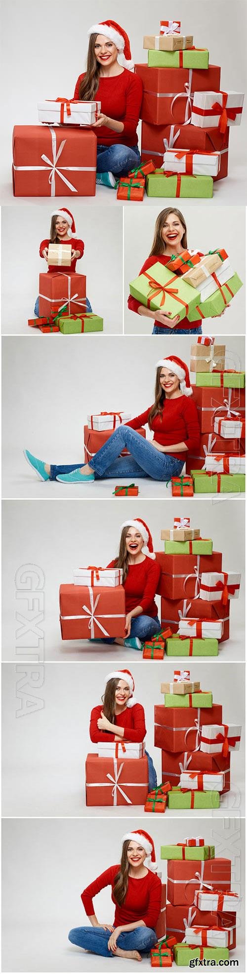
[[[210,761],[204,761],[210,758]],[[172,788],[178,787],[182,771],[223,771],[224,788],[223,792],[228,792],[229,784],[229,764],[230,752],[224,758],[222,754],[204,754],[203,751],[181,751],[172,754],[170,751],[161,751],[162,781],[169,780]]]

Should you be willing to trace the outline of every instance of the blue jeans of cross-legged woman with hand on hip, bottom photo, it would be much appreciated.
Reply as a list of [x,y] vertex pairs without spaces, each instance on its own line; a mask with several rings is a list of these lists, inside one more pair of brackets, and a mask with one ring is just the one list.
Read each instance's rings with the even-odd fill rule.
[[[109,930],[103,930],[101,926],[76,926],[69,931],[71,944],[82,947],[84,951],[98,954],[101,957],[114,957],[113,951],[108,950],[108,940],[111,934]],[[157,943],[156,931],[149,926],[137,926],[135,930],[128,933],[121,933],[118,937],[117,946],[123,951],[139,951],[140,954],[149,954],[149,951]]]

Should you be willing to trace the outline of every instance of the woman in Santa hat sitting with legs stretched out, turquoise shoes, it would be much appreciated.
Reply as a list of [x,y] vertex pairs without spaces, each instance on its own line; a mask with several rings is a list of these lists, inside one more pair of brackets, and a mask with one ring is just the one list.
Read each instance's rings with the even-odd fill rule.
[[[105,477],[152,477],[168,481],[180,476],[186,454],[199,446],[199,424],[188,365],[170,356],[157,363],[155,402],[141,416],[122,425],[95,453],[90,464],[56,467],[38,460],[28,450],[24,457],[40,480],[85,483]],[[136,432],[148,424],[154,431],[150,442]],[[126,447],[130,456],[120,457]]]

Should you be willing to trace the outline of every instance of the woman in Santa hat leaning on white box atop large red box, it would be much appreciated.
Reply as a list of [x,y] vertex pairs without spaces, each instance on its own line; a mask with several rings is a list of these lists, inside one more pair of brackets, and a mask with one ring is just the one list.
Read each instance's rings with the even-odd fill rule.
[[[141,743],[146,736],[145,713],[141,703],[137,703],[134,681],[129,670],[116,670],[105,678],[105,693],[102,703],[93,707],[90,715],[89,734],[93,744],[100,741],[136,741]],[[157,788],[157,773],[153,760],[145,750],[149,764],[149,791]]]

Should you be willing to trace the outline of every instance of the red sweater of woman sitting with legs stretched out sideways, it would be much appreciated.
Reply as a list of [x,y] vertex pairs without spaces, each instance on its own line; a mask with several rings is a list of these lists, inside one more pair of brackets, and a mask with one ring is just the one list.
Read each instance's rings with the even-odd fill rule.
[[[141,426],[145,426],[148,423],[151,408],[149,406],[145,413],[141,413],[141,416],[135,416],[133,420],[129,420],[126,426],[130,426],[132,430],[139,430]],[[161,416],[156,416],[153,419],[151,429],[155,433],[154,439],[162,446],[169,446],[174,442],[185,443],[191,453],[197,450],[200,431],[193,396],[179,395],[177,399],[164,399]],[[175,450],[172,450],[171,456],[175,457],[176,460],[185,460],[186,453],[187,451],[176,453]],[[111,563],[111,568],[113,565],[114,562]]]

